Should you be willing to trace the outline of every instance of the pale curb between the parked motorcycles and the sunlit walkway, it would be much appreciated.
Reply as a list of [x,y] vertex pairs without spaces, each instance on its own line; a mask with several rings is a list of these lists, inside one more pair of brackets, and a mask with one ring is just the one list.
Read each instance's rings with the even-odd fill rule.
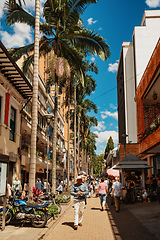
[[[73,199],[71,199],[70,203],[66,206],[66,208],[64,209],[64,211],[62,211],[62,213],[59,215],[58,218],[54,219],[53,218],[50,218],[48,220],[48,226],[47,228],[45,228],[44,230],[42,230],[42,232],[40,232],[37,236],[37,238],[35,240],[41,240],[41,239],[44,239],[46,237],[46,233],[50,232],[50,230],[52,230],[53,228],[52,227],[55,227],[54,225],[56,225],[59,221],[60,221],[60,218],[68,211],[69,207],[72,205],[73,203]],[[52,229],[51,229],[52,228]]]

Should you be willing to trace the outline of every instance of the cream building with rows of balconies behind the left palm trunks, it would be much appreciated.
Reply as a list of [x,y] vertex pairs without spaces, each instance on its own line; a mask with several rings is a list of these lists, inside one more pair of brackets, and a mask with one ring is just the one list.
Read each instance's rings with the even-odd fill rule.
[[[17,64],[22,67],[25,56],[18,60]],[[33,82],[33,65],[31,65],[26,74],[31,85]],[[29,161],[30,161],[30,144],[31,144],[31,107],[32,99],[26,103],[22,111],[22,144],[21,144],[21,158],[22,158],[22,182],[28,181],[29,176]],[[37,159],[36,159],[36,177],[45,179],[47,176],[47,159],[49,169],[49,181],[51,182],[52,169],[52,141],[53,141],[53,121],[49,123],[49,155],[47,154],[48,131],[46,114],[53,114],[54,98],[51,94],[46,93],[46,85],[42,76],[38,76],[38,125],[37,125]],[[53,116],[54,118],[54,116]],[[56,174],[57,178],[63,178],[65,141],[64,141],[64,120],[58,110],[58,125],[57,125],[57,147],[56,147]]]

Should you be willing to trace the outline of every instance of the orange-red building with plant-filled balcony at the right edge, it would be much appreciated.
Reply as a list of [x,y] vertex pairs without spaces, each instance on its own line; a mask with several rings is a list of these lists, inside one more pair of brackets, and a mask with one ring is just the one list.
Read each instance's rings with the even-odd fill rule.
[[139,156],[160,174],[160,39],[136,91]]

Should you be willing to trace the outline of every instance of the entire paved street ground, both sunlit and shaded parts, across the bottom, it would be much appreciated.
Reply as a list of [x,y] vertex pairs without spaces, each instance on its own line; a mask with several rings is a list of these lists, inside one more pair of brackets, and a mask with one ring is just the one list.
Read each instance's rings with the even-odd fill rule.
[[158,240],[160,239],[160,205],[157,202],[121,204],[119,213],[113,205],[100,211],[99,198],[87,199],[83,226],[73,229],[73,203],[62,205],[62,215],[46,228],[36,229],[25,224],[6,226],[0,240]]

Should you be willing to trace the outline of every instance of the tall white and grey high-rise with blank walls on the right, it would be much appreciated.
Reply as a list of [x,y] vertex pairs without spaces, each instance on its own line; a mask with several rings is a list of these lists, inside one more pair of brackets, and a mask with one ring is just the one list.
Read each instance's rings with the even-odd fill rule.
[[136,89],[160,36],[159,27],[160,10],[147,10],[134,28],[133,41],[122,44],[117,72],[120,160],[125,152],[138,154]]

